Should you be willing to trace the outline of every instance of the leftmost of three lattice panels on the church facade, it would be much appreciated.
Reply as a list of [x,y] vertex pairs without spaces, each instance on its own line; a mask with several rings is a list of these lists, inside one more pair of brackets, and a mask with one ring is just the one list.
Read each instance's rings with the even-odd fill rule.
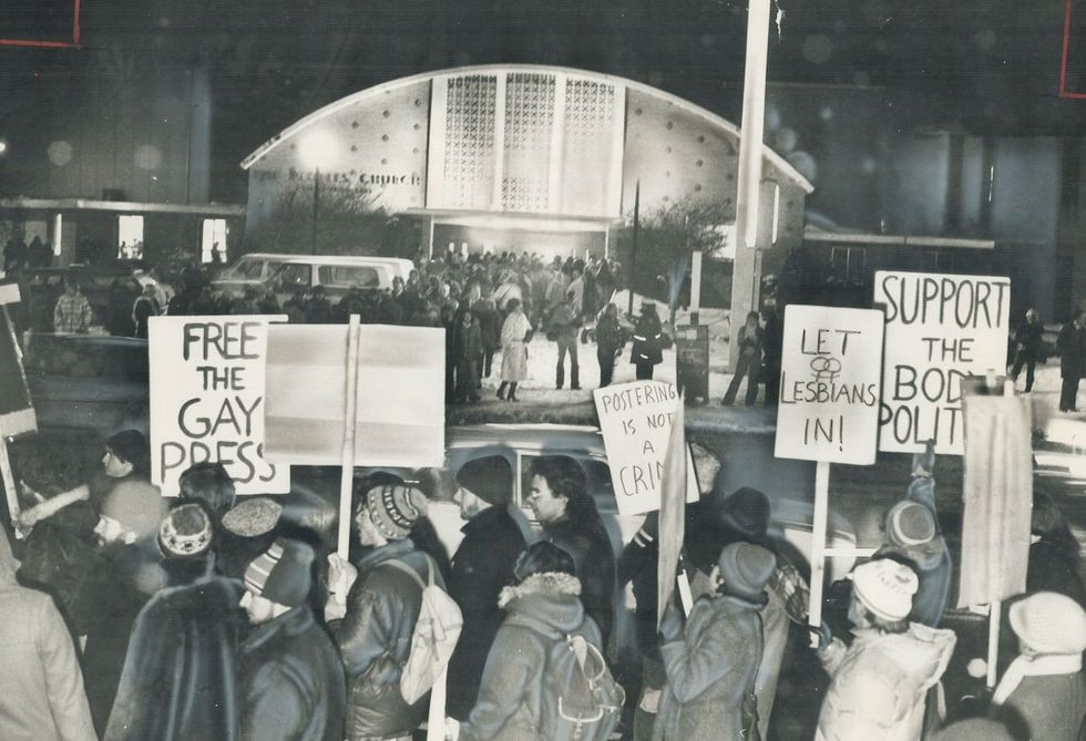
[[498,81],[464,75],[448,82],[443,205],[490,208],[494,188]]

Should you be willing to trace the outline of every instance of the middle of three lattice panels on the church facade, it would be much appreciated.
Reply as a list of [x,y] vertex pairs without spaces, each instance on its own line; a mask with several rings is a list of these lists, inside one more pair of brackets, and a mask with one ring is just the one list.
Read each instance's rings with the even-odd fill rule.
[[505,88],[505,163],[502,208],[545,213],[554,130],[552,74],[512,73]]

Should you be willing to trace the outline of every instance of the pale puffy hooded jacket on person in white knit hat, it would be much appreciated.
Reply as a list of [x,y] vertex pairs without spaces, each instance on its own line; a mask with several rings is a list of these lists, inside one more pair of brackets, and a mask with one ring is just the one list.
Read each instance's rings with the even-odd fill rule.
[[946,670],[956,636],[918,622],[901,634],[862,628],[853,635],[848,649],[834,640],[822,657],[832,679],[816,741],[916,741],[924,694]]

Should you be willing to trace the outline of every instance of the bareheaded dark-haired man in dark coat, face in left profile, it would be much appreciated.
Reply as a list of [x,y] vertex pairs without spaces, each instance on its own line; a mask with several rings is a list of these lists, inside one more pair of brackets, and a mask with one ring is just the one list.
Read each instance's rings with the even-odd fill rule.
[[584,470],[572,457],[544,455],[532,462],[531,473],[527,504],[544,538],[573,556],[582,601],[606,646],[614,626],[615,558]]

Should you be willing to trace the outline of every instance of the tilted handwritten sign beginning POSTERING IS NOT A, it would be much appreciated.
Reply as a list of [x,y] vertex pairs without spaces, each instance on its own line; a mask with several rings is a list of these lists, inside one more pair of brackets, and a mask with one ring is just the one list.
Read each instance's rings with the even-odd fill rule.
[[[663,381],[633,381],[596,389],[593,395],[618,513],[637,515],[658,510],[664,456],[679,403],[678,392]],[[686,500],[697,502],[698,487],[689,453],[686,467]]]

